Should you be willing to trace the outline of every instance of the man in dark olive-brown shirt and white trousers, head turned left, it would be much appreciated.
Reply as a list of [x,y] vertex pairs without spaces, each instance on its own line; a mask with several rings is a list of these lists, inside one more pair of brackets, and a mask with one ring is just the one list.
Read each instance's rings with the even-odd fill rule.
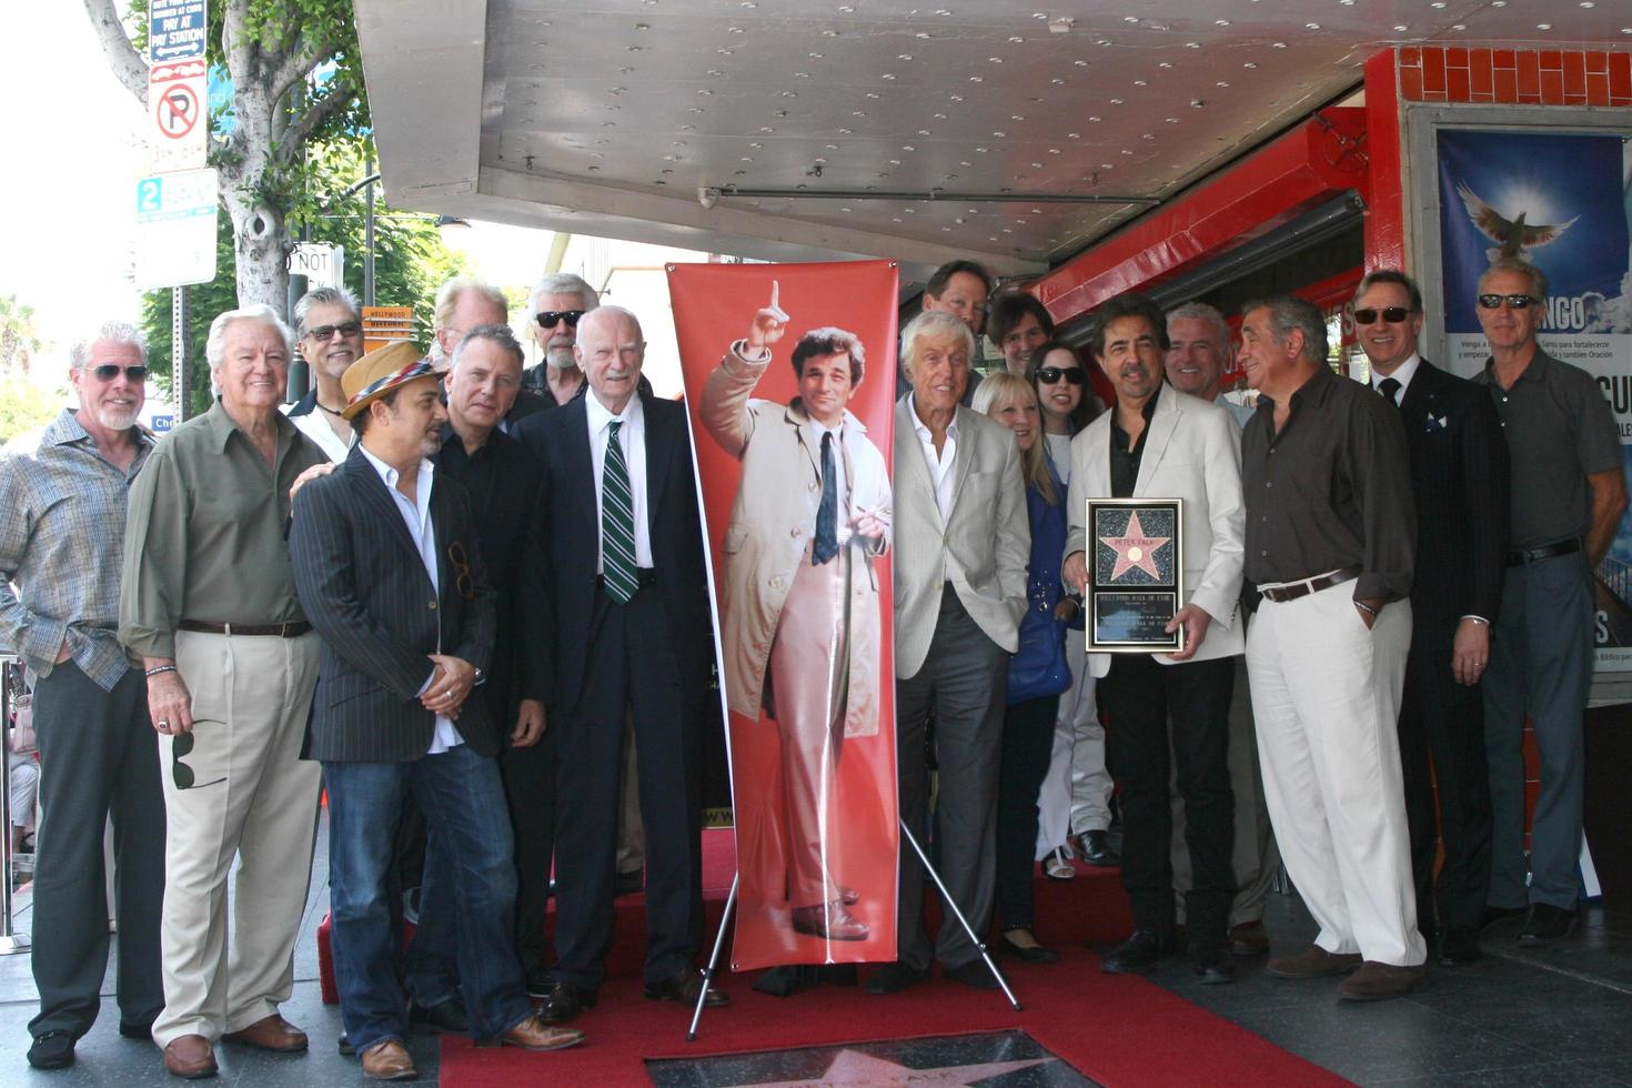
[[1258,390],[1242,431],[1247,675],[1263,793],[1286,871],[1320,925],[1281,979],[1355,971],[1351,1002],[1399,997],[1426,948],[1405,824],[1399,721],[1412,639],[1417,507],[1400,414],[1327,365],[1301,299],[1244,310]]

